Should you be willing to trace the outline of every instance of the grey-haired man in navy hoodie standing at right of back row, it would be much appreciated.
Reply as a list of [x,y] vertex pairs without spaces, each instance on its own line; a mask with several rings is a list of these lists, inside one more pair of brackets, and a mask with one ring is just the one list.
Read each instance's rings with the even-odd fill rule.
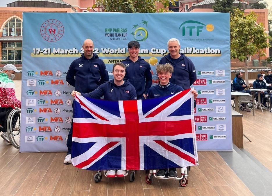
[[172,84],[181,86],[184,90],[191,88],[196,81],[196,68],[194,63],[180,53],[180,42],[176,38],[169,39],[167,42],[169,54],[162,57],[159,64],[170,63],[174,72],[170,78]]

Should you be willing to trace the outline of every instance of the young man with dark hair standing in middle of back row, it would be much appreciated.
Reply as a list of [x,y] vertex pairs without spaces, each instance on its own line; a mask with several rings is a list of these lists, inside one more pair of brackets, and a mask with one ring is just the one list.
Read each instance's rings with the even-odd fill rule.
[[129,57],[121,61],[126,65],[125,78],[135,87],[137,99],[145,99],[148,89],[152,85],[151,67],[148,62],[138,56],[140,44],[138,41],[128,43]]

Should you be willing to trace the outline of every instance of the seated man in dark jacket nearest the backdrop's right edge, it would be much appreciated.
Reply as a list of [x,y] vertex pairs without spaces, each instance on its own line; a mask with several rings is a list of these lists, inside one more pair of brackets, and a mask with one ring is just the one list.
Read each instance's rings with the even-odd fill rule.
[[[236,72],[235,78],[232,80],[233,90],[238,91],[238,92],[246,92],[246,93],[251,94],[251,91],[249,89],[245,90],[247,85],[246,85],[245,81],[242,79],[242,77],[243,77],[243,74],[241,72]],[[250,109],[246,108],[246,104],[243,104],[243,106],[240,107],[240,110],[251,112]]]

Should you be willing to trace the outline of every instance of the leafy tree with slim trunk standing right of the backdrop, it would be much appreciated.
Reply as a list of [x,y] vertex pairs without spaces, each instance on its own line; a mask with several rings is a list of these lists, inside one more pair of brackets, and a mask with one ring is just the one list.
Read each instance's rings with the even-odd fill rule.
[[269,48],[268,35],[262,23],[257,23],[257,15],[236,9],[230,14],[230,57],[245,63],[246,84],[248,84],[248,62],[246,57],[259,52],[260,57],[265,56],[263,48]]

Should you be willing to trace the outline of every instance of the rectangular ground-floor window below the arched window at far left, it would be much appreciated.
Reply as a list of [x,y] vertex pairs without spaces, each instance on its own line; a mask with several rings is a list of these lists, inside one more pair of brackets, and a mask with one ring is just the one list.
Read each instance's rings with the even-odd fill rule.
[[17,61],[12,64],[20,64],[22,61],[22,42],[2,42],[2,61]]

